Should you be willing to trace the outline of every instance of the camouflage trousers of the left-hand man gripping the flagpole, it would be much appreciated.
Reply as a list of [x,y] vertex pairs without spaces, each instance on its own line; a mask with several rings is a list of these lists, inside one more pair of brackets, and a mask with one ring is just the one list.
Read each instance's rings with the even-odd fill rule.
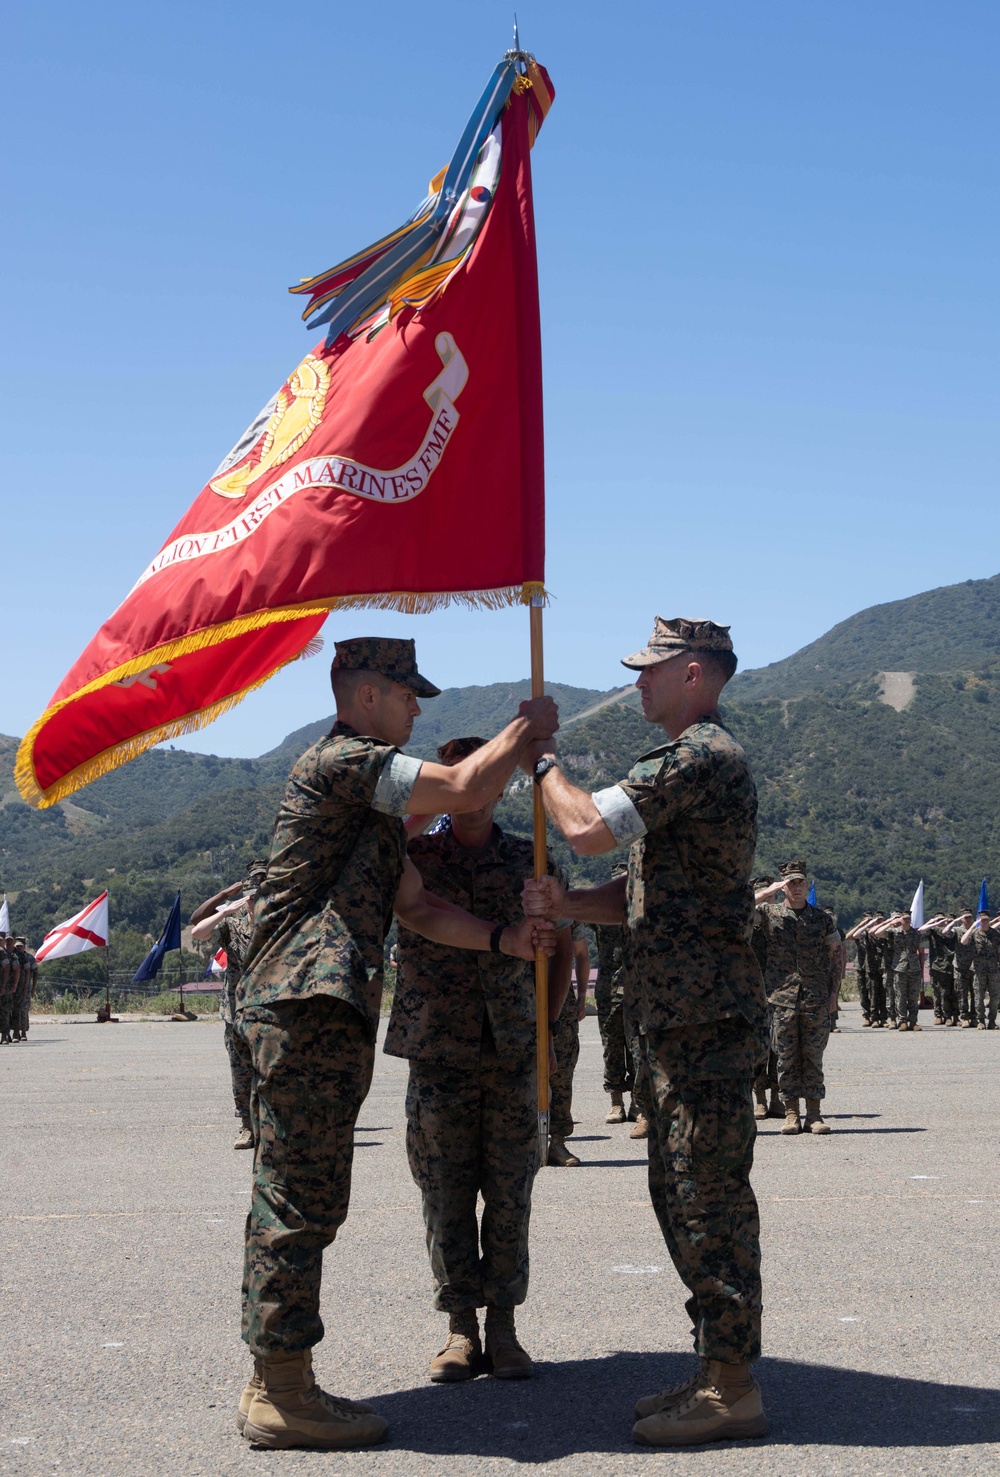
[[256,1072],[257,1140],[242,1334],[266,1357],[323,1337],[323,1248],[347,1219],[375,1044],[359,1012],[332,995],[245,1010],[241,1031]]

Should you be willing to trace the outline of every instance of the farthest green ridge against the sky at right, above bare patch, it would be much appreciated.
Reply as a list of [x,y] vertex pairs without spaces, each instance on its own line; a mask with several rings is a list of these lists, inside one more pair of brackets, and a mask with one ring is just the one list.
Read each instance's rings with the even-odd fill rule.
[[950,672],[1000,657],[1000,575],[870,606],[783,662],[742,672],[731,700],[801,697],[873,672]]

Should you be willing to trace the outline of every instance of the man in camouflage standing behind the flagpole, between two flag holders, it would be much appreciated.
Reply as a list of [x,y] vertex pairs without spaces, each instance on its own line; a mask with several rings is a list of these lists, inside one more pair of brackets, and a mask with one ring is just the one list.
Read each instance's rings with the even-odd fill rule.
[[[448,764],[448,746],[439,753]],[[492,815],[492,805],[473,815],[452,814],[442,830],[411,840],[408,851],[436,897],[476,917],[516,923],[521,886],[533,874],[533,846],[505,835]],[[551,857],[549,870],[555,870]],[[552,1007],[567,993],[570,963],[570,933],[561,929],[551,967]],[[409,1060],[406,1155],[422,1199],[434,1307],[449,1315],[449,1337],[430,1366],[436,1382],[479,1374],[476,1309],[487,1309],[489,1325],[492,1309],[513,1310],[527,1295],[538,1170],[535,1040],[530,963],[449,948],[400,926],[384,1050]],[[561,1040],[560,1034],[557,1053]],[[507,1368],[495,1372],[527,1377],[530,1359],[508,1357]]]

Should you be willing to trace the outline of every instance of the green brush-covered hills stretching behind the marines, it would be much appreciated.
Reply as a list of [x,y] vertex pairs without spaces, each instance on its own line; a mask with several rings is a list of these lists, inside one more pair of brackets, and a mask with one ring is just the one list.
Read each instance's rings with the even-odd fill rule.
[[[866,907],[973,898],[1000,867],[1000,576],[861,611],[786,662],[734,678],[727,721],[746,746],[761,795],[758,868],[805,857],[820,901],[854,920]],[[886,678],[886,674],[889,676]],[[452,688],[427,703],[411,749],[433,756],[455,734],[490,737],[529,684]],[[612,784],[653,747],[626,690],[552,688],[567,772]],[[625,697],[625,700],[620,700]],[[258,759],[158,749],[31,811],[12,781],[16,740],[0,737],[0,889],[32,939],[108,886],[115,959],[134,963],[177,889],[191,911],[266,852],[288,770],[329,719],[297,730]],[[530,835],[532,792],[516,775],[501,821]],[[560,863],[601,880],[610,858]],[[1000,886],[1000,879],[999,879]],[[55,966],[53,966],[55,967]],[[96,972],[83,956],[61,973]]]

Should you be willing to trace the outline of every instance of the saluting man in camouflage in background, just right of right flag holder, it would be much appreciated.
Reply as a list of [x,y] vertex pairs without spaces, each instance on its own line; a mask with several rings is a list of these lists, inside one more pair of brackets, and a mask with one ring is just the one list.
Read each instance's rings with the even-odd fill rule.
[[[835,1001],[833,950],[840,942],[836,923],[824,908],[806,902],[806,868],[790,861],[771,888],[756,895],[767,932],[764,976],[771,1013],[771,1049],[777,1059],[778,1093],[784,1105],[781,1133],[796,1134],[799,1103],[805,1099],[805,1127],[829,1131],[820,1103],[826,1096],[823,1053],[830,1038]],[[774,889],[783,902],[767,901]]]

